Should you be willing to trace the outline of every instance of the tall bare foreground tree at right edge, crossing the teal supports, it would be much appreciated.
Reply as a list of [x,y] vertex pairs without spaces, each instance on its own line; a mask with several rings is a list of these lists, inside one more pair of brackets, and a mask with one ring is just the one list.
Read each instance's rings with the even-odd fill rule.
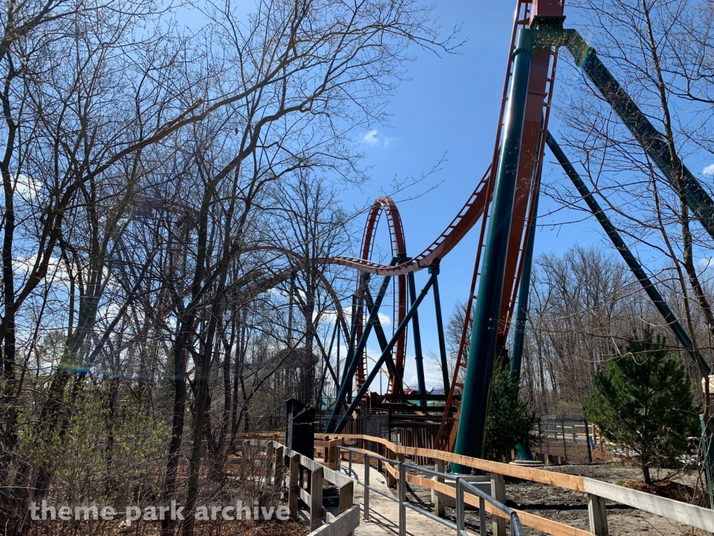
[[[590,23],[598,55],[660,132],[663,157],[673,166],[668,173],[655,167],[595,87],[572,72],[568,106],[559,110],[567,125],[565,144],[615,226],[678,310],[695,353],[710,362],[710,273],[698,259],[707,257],[711,237],[688,205],[683,162],[714,154],[712,79],[706,76],[712,69],[714,11],[710,4],[688,0],[585,0],[577,8]],[[710,183],[703,187],[711,193]],[[577,205],[575,197],[547,191]],[[649,320],[664,327],[655,317]]]

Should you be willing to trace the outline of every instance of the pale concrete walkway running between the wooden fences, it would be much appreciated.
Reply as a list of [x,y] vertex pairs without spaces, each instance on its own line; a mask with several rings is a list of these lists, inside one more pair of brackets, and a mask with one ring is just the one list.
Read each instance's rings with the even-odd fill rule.
[[[341,472],[347,474],[346,462],[342,462]],[[351,477],[356,477],[361,482],[364,482],[364,465],[352,464]],[[372,487],[396,498],[397,490],[391,490],[387,487],[383,473],[379,473],[376,468],[371,467],[369,477],[369,483]],[[360,508],[363,508],[364,487],[359,484],[355,485],[355,502],[360,505]],[[355,536],[387,536],[399,534],[398,502],[389,500],[371,491],[369,493],[369,517],[370,520],[368,522],[363,518],[361,519],[360,526],[355,530]],[[426,515],[421,515],[407,508],[406,533],[408,536],[454,536],[456,531],[429,519]]]

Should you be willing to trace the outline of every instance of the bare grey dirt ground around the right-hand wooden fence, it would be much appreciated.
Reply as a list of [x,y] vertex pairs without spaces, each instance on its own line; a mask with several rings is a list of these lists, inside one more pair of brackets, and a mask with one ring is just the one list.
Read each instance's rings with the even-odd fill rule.
[[[625,480],[641,480],[642,473],[636,467],[624,467],[619,463],[593,464],[593,465],[560,465],[546,466],[545,470],[562,472],[568,475],[590,477],[605,482],[621,485]],[[426,475],[424,475],[426,476]],[[653,478],[657,478],[653,472]],[[664,477],[661,473],[659,477]],[[694,486],[696,475],[680,475],[673,480]],[[415,502],[425,510],[432,510],[431,491],[426,488],[409,487],[408,499]],[[694,529],[680,523],[673,522],[658,515],[643,512],[632,507],[608,501],[608,528],[610,536],[628,535],[706,535],[708,532]],[[526,482],[523,480],[506,478],[506,505],[553,521],[565,523],[573,527],[588,530],[588,501],[584,493],[563,490],[560,487]],[[447,518],[452,522],[456,520],[456,510],[447,508]],[[491,534],[491,520],[488,518],[488,534]],[[478,527],[478,512],[467,510],[467,530]],[[526,536],[540,535],[542,532],[528,527],[523,527]]]

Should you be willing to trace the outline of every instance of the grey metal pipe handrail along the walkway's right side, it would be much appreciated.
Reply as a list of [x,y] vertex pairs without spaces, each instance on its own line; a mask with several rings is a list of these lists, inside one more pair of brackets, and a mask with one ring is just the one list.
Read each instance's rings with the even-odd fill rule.
[[[456,536],[469,536],[468,532],[466,532],[466,530],[464,529],[465,504],[463,501],[463,494],[464,494],[464,491],[466,490],[466,491],[468,491],[468,493],[471,493],[472,495],[476,495],[476,497],[478,497],[478,517],[479,517],[478,531],[479,531],[479,534],[481,534],[481,535],[486,534],[486,531],[485,531],[485,529],[486,529],[486,502],[488,502],[489,504],[493,505],[493,507],[496,507],[498,510],[501,510],[501,512],[506,514],[511,519],[511,536],[523,536],[523,527],[521,527],[521,520],[518,519],[518,513],[516,511],[507,507],[502,502],[494,499],[493,497],[491,497],[491,495],[488,495],[488,493],[485,493],[485,492],[479,490],[478,487],[472,485],[471,482],[468,482],[463,477],[459,477],[459,476],[449,474],[449,473],[438,472],[435,470],[427,469],[426,467],[421,467],[419,465],[413,465],[408,462],[401,462],[399,460],[391,460],[390,458],[386,458],[386,457],[383,457],[380,455],[370,454],[366,450],[354,449],[351,447],[343,447],[341,445],[337,445],[337,459],[338,460],[340,459],[340,450],[345,450],[349,453],[348,475],[350,477],[352,477],[352,453],[354,452],[354,453],[364,457],[364,482],[359,480],[356,476],[353,478],[354,478],[354,480],[356,480],[356,482],[358,484],[361,484],[364,486],[363,517],[364,517],[365,521],[369,521],[369,492],[373,491],[373,492],[378,493],[379,495],[382,495],[383,497],[386,497],[389,500],[393,500],[394,502],[399,503],[399,536],[406,536],[406,509],[407,508],[409,508],[410,510],[414,510],[415,512],[418,512],[422,515],[426,515],[426,517],[428,517],[431,520],[441,523],[441,525],[445,525],[446,527],[449,527],[450,529],[456,530]],[[378,490],[376,487],[373,487],[370,485],[370,483],[369,483],[369,473],[370,473],[369,460],[370,459],[381,460],[382,462],[386,462],[388,464],[398,466],[398,470],[399,470],[398,497],[389,495],[388,493],[385,493],[382,490]],[[441,517],[433,515],[431,512],[422,510],[421,508],[417,507],[416,505],[412,505],[411,503],[407,502],[407,500],[406,500],[406,470],[408,468],[418,470],[419,472],[425,472],[428,475],[433,475],[436,477],[443,477],[443,478],[456,480],[456,524],[454,524],[450,521],[447,521],[447,520],[443,520],[443,519],[441,519]]]

